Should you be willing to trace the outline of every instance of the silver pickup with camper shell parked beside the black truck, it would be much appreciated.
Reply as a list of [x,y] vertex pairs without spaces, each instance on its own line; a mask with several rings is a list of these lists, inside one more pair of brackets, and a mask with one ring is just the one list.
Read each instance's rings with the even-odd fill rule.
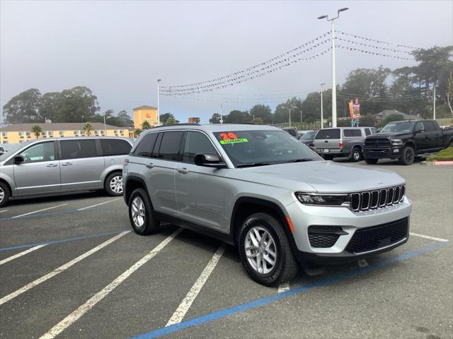
[[362,159],[365,137],[376,133],[374,127],[336,127],[320,129],[314,137],[314,148],[326,160],[348,157]]

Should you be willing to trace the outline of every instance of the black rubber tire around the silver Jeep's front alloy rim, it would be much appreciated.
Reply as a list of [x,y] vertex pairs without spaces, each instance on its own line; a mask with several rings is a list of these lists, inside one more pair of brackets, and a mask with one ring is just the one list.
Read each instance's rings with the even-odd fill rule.
[[[266,274],[258,273],[256,268],[253,268],[251,263],[248,262],[246,255],[246,236],[253,227],[260,227],[268,232],[275,244],[275,266]],[[258,254],[258,252],[256,253]],[[260,253],[262,256],[265,255],[264,252]],[[239,256],[241,256],[241,261],[248,275],[257,283],[266,286],[275,286],[291,280],[299,269],[282,223],[267,213],[254,213],[243,222],[239,233]]]

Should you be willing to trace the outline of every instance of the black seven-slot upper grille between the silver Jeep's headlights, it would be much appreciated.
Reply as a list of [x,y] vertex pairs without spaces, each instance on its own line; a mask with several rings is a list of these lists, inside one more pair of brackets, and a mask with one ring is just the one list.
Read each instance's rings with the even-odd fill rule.
[[350,194],[350,208],[354,212],[375,210],[401,203],[406,188],[404,185],[388,187],[374,191],[363,191]]

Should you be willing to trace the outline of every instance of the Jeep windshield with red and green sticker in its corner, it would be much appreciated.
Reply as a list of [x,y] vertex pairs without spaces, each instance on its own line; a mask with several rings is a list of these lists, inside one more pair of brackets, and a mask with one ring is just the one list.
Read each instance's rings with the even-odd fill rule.
[[224,131],[214,136],[235,167],[322,160],[285,131]]

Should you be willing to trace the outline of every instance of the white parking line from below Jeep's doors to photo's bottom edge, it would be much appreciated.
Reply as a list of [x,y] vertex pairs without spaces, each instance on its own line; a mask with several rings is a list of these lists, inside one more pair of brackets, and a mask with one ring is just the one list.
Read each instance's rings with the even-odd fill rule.
[[40,339],[50,339],[50,338],[55,338],[59,333],[62,333],[66,328],[71,326],[74,321],[79,319],[81,316],[83,316],[87,311],[89,311],[94,305],[96,305],[98,302],[100,302],[102,299],[104,299],[110,292],[112,292],[115,287],[120,285],[124,280],[126,280],[132,273],[134,273],[136,270],[138,270],[141,266],[143,266],[147,261],[151,260],[151,258],[154,258],[156,254],[158,254],[164,247],[171,242],[183,229],[180,228],[173,232],[171,235],[166,237],[163,242],[161,242],[159,245],[154,247],[146,256],[141,258],[139,261],[134,263],[130,268],[125,270],[124,273],[122,273],[120,276],[118,276],[115,280],[112,281],[112,283],[108,284],[105,286],[101,291],[96,293],[96,295],[93,295],[90,299],[88,299],[85,304],[81,305],[78,309],[73,311],[69,316],[64,318],[62,321],[57,323],[54,327],[52,327],[47,333],[42,335]]

